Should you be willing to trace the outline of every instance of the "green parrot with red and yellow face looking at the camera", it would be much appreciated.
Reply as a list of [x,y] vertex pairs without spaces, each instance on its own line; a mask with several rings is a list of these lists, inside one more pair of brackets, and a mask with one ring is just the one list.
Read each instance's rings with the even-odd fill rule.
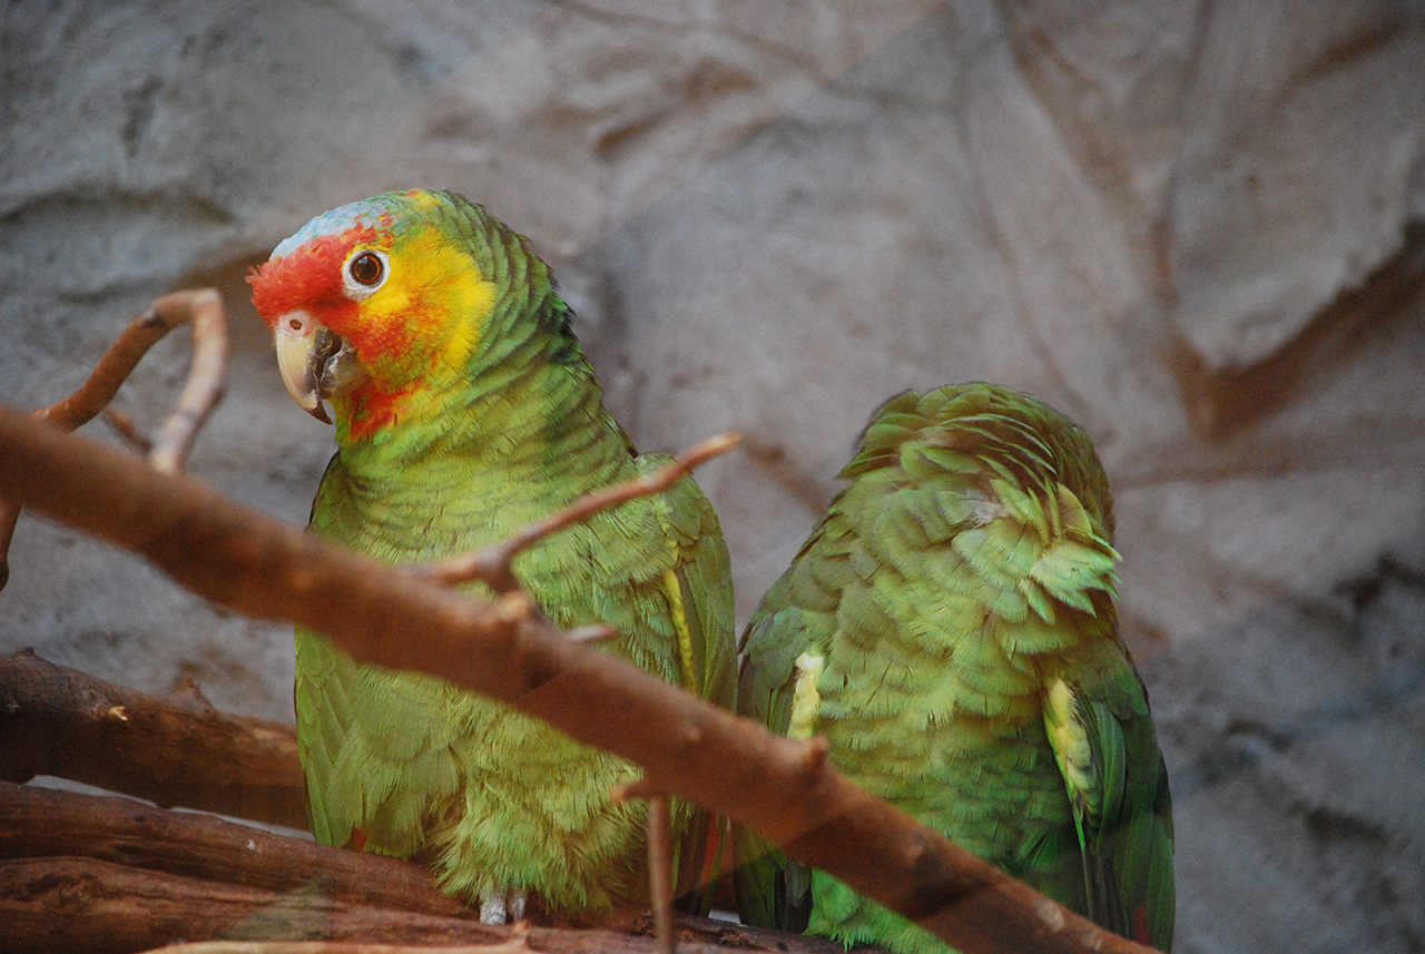
[[[292,397],[335,414],[321,537],[440,560],[668,460],[638,454],[604,409],[549,266],[456,194],[318,215],[248,281]],[[556,624],[608,624],[620,636],[601,648],[732,706],[727,547],[691,478],[550,535],[513,570]],[[296,631],[295,701],[319,842],[420,860],[490,923],[527,901],[584,913],[647,897],[644,806],[610,802],[634,766],[440,679],[361,665],[311,629]],[[674,803],[680,890],[710,830]]]

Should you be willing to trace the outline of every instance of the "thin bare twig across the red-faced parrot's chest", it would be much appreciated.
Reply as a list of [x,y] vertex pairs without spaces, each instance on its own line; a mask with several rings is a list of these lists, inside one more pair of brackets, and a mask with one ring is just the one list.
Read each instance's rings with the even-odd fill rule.
[[673,461],[651,474],[586,494],[569,507],[527,524],[523,530],[502,542],[449,560],[410,567],[410,570],[446,585],[480,580],[489,584],[496,592],[519,589],[520,584],[514,578],[510,564],[532,545],[550,534],[574,524],[581,524],[600,511],[610,510],[637,497],[650,497],[663,493],[678,480],[691,474],[694,468],[737,447],[741,440],[742,436],[737,431],[708,437],[688,447]]

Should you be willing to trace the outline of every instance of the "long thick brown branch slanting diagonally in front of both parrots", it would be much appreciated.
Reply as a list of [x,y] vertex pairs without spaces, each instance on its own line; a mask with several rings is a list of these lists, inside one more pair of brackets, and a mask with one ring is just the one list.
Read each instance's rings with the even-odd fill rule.
[[363,662],[449,679],[636,762],[653,787],[725,812],[962,951],[1149,950],[871,797],[807,743],[574,644],[539,614],[502,618],[3,409],[0,494],[128,547],[238,612],[316,628]]

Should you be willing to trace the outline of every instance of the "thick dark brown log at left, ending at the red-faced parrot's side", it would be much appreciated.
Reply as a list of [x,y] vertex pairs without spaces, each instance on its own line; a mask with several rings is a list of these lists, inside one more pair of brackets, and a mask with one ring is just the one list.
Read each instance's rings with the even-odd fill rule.
[[191,683],[154,696],[17,652],[0,656],[0,779],[37,775],[306,827],[292,726],[218,712]]

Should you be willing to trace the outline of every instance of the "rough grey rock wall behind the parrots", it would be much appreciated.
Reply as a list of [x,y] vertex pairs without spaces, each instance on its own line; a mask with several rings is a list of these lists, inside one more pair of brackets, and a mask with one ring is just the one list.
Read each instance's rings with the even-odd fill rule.
[[[647,447],[708,468],[745,617],[908,386],[1099,440],[1174,777],[1180,951],[1425,950],[1425,13],[1285,4],[11,3],[0,400],[170,288],[234,309],[192,471],[301,521],[329,434],[241,275],[457,188],[563,276]],[[167,342],[121,394],[155,424]],[[101,426],[91,426],[101,434]],[[285,716],[291,644],[23,521],[0,651]]]

